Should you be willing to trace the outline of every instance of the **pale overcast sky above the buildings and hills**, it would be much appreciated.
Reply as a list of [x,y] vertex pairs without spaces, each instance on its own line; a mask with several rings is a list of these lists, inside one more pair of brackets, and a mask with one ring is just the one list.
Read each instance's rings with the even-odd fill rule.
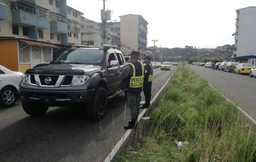
[[[67,5],[84,13],[84,17],[101,22],[102,0],[67,0]],[[255,0],[106,0],[105,10],[113,10],[112,20],[137,14],[148,24],[148,45],[215,48],[234,44],[236,10],[256,6]],[[256,17],[256,15],[255,15]]]

